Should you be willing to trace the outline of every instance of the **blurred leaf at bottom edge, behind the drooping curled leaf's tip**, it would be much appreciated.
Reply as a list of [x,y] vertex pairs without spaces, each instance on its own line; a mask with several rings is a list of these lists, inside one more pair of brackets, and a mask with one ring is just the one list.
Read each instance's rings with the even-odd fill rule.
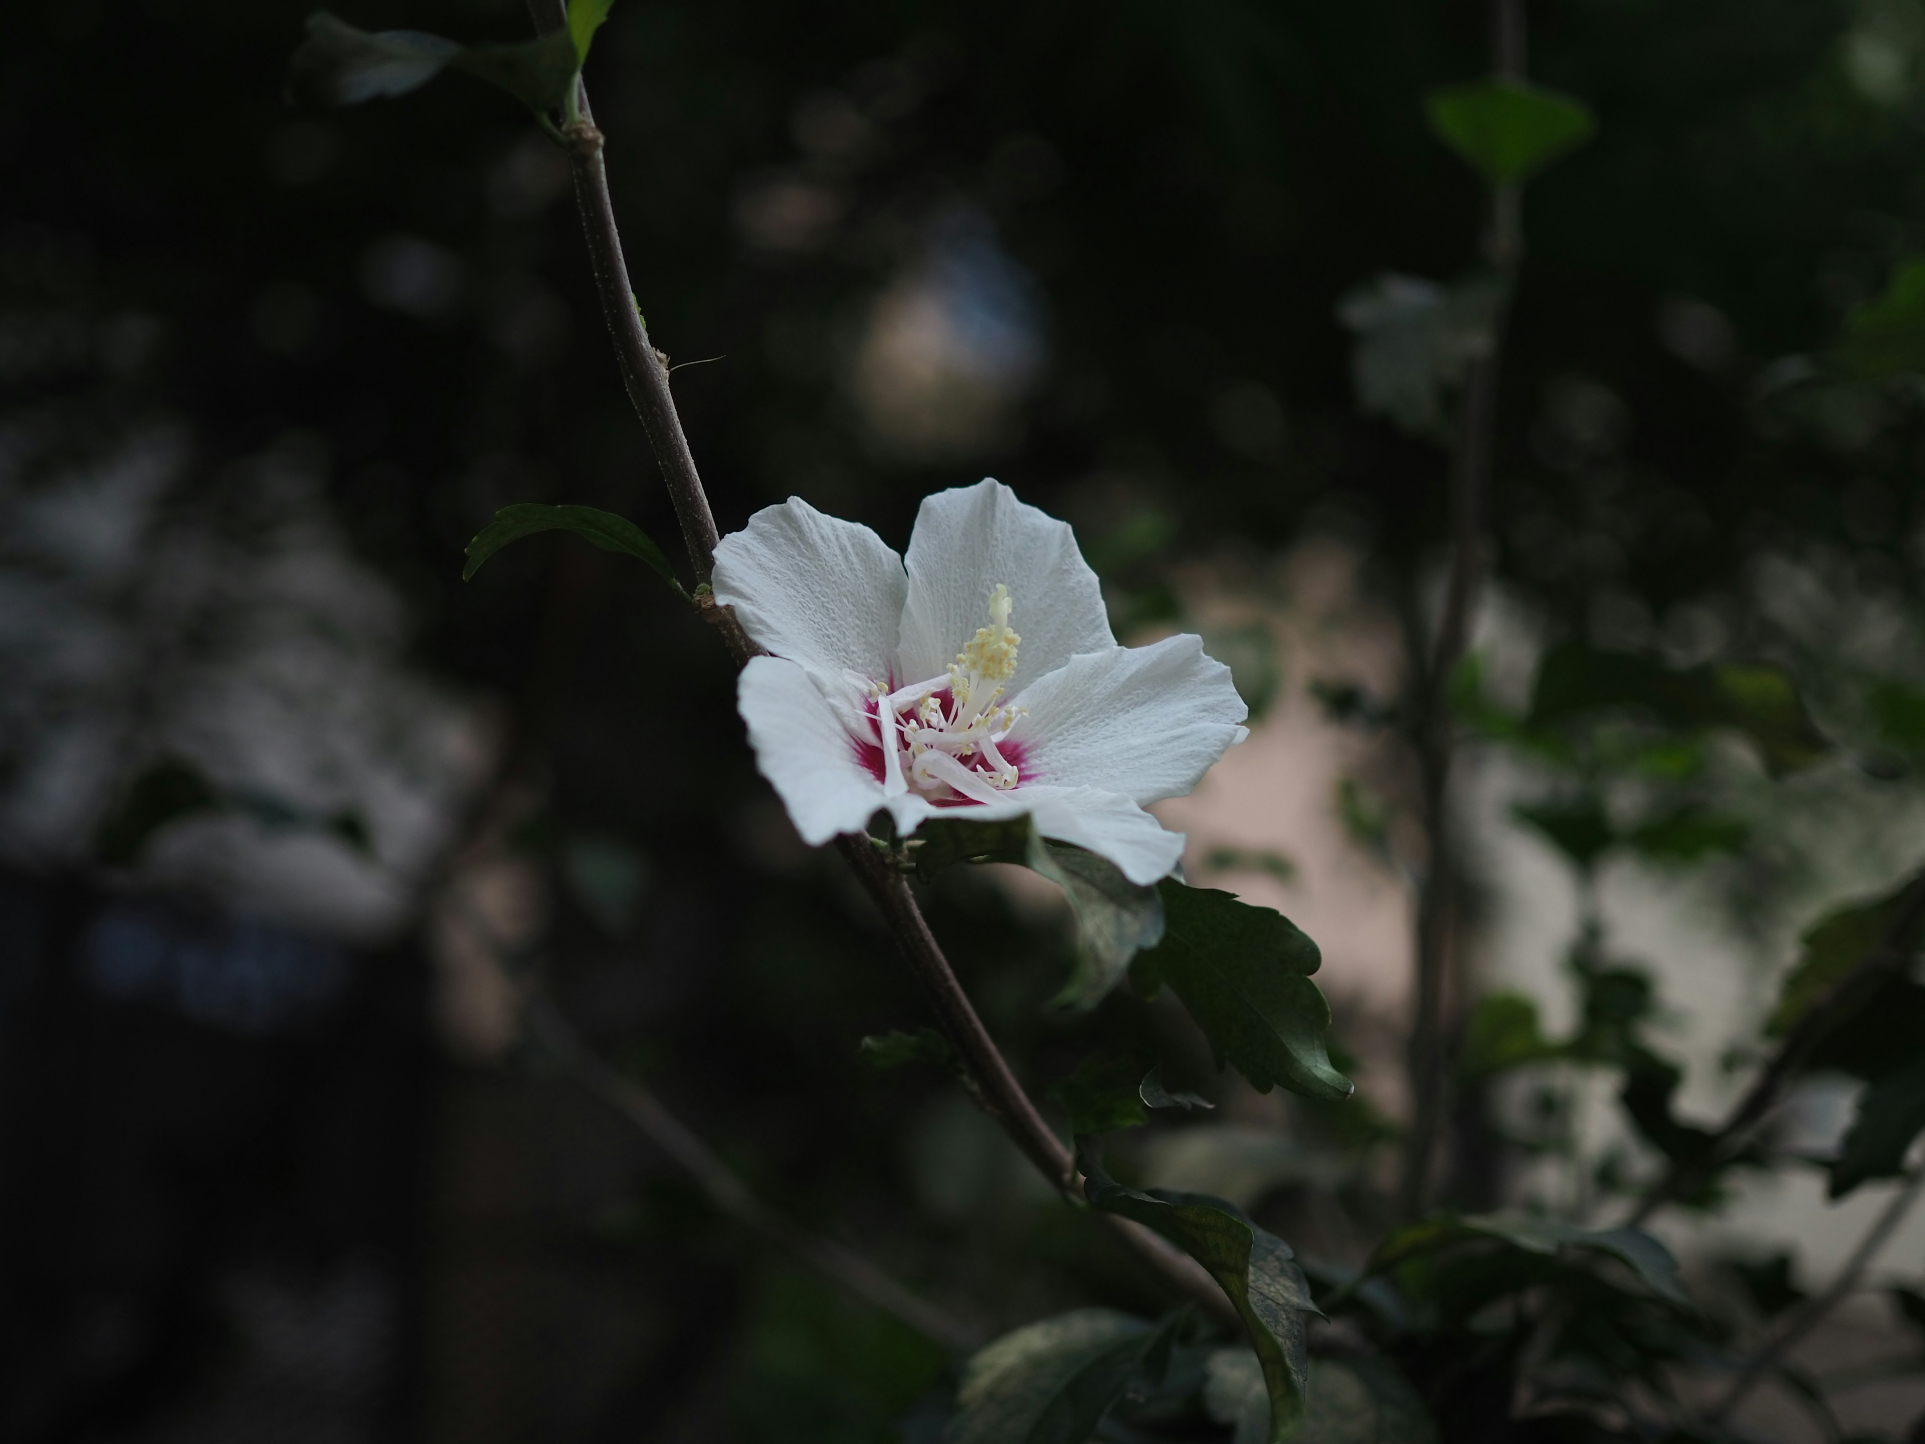
[[[1232,1444],[1263,1444],[1270,1400],[1263,1369],[1247,1350],[1217,1350],[1205,1361],[1203,1411],[1236,1425]],[[1386,1359],[1313,1359],[1309,1407],[1292,1444],[1434,1444],[1436,1425],[1409,1380]]]

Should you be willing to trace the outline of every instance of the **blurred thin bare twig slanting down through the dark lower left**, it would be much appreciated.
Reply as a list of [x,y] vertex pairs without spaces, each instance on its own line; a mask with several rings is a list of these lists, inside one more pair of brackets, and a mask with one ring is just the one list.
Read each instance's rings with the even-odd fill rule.
[[957,1354],[970,1354],[982,1338],[941,1309],[911,1294],[889,1275],[832,1238],[812,1234],[793,1219],[768,1207],[693,1134],[654,1094],[603,1063],[568,1024],[568,1019],[541,995],[522,1005],[529,1030],[568,1072],[608,1107],[633,1122],[647,1138],[695,1180],[718,1213],[758,1232],[783,1251],[808,1263],[816,1273],[859,1300],[874,1303],[924,1338]]

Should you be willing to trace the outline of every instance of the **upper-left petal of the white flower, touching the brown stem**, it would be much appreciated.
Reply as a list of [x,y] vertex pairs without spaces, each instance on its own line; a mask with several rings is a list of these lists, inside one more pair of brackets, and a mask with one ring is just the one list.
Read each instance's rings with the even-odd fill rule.
[[889,680],[909,578],[866,526],[824,516],[801,497],[764,506],[722,537],[712,585],[776,657],[828,676]]

